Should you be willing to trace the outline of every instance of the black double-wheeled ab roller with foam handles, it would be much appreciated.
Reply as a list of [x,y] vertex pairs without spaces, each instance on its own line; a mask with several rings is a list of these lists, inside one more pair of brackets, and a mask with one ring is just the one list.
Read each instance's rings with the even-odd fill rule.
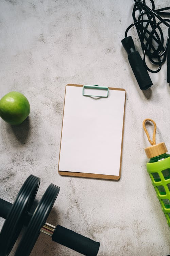
[[63,244],[86,256],[98,254],[99,242],[95,242],[60,225],[46,223],[60,188],[51,184],[45,191],[33,214],[29,211],[34,202],[40,179],[30,175],[21,187],[13,204],[0,199],[0,216],[6,218],[0,232],[0,256],[11,252],[23,225],[27,226],[17,247],[15,256],[30,255],[36,240],[43,232],[54,242]]

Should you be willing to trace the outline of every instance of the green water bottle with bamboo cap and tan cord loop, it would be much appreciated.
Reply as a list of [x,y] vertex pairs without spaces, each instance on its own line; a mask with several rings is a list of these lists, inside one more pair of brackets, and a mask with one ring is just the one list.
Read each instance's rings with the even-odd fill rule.
[[[145,127],[146,121],[154,124],[153,140],[151,141],[149,133]],[[147,163],[147,171],[150,175],[152,184],[155,188],[157,198],[161,204],[162,210],[170,226],[170,155],[164,142],[156,144],[156,124],[152,119],[143,121],[143,128],[147,134],[148,140],[152,146],[145,148],[145,153],[150,158]]]

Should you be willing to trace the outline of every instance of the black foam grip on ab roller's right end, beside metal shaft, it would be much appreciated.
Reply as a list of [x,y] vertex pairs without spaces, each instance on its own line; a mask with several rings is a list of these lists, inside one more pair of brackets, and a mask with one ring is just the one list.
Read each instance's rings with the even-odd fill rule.
[[99,251],[99,242],[95,242],[81,234],[57,225],[52,240],[86,256],[96,256]]

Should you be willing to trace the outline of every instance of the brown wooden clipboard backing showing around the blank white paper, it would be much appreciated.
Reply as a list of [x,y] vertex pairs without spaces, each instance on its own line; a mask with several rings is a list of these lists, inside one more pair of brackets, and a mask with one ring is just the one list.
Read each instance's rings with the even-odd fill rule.
[[[74,87],[82,87],[83,85],[77,85],[77,84],[68,84],[66,85],[66,88],[68,86],[74,86]],[[121,176],[121,162],[122,162],[122,147],[123,147],[123,132],[124,132],[124,114],[125,114],[125,90],[120,88],[111,88],[108,87],[109,90],[115,90],[115,91],[124,91],[124,106],[123,106],[123,119],[122,119],[122,134],[121,134],[121,152],[120,152],[120,168],[118,175],[107,175],[107,174],[97,174],[97,173],[86,173],[86,172],[74,172],[74,171],[63,171],[60,168],[60,158],[61,158],[61,145],[62,145],[62,136],[61,134],[61,143],[60,143],[60,155],[59,155],[59,162],[58,162],[58,173],[60,175],[66,175],[66,176],[77,176],[77,177],[88,177],[88,178],[95,178],[95,179],[108,179],[108,180],[119,180]],[[65,100],[66,100],[66,89],[65,89]],[[63,122],[64,122],[64,115],[65,115],[65,101],[64,101],[64,110],[63,110]],[[63,133],[63,122],[62,122],[62,133]],[[65,159],[67,161],[67,159]]]

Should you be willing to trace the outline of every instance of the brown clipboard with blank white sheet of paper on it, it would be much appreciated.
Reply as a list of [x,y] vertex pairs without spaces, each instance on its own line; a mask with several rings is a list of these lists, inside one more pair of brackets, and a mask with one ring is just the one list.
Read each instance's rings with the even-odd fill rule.
[[60,175],[120,179],[125,95],[119,88],[66,85]]

